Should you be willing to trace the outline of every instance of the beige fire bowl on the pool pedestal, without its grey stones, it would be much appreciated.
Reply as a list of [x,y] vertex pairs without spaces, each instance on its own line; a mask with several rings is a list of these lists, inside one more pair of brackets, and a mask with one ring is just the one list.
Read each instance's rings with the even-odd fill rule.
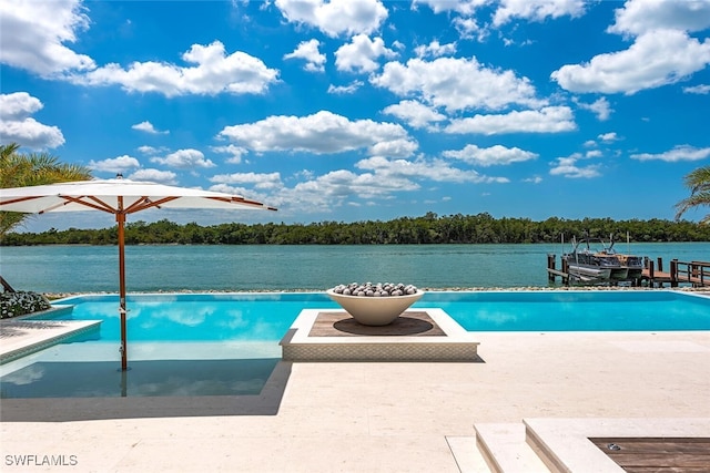
[[417,289],[415,294],[405,296],[367,297],[344,296],[328,289],[327,295],[341,305],[355,320],[364,326],[386,326],[424,296]]

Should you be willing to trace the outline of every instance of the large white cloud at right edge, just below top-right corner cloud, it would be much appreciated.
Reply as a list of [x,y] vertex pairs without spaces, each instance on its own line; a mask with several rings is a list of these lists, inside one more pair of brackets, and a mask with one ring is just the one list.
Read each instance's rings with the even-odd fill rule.
[[570,92],[633,94],[687,79],[710,63],[710,40],[700,43],[677,30],[653,30],[625,51],[567,64],[551,78]]

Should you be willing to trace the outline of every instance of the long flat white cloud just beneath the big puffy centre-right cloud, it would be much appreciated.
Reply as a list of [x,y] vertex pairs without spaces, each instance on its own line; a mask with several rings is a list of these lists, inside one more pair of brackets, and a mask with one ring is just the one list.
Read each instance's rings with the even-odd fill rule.
[[568,106],[546,106],[539,111],[514,111],[501,115],[475,115],[453,120],[445,133],[479,133],[496,135],[504,133],[561,133],[577,130],[572,112]]

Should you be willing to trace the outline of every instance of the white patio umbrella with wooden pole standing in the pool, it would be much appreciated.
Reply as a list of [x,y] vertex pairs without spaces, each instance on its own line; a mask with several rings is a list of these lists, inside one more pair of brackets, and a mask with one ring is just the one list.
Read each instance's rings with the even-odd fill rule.
[[166,186],[151,182],[93,179],[16,188],[0,188],[0,210],[44,214],[48,212],[100,210],[115,215],[119,233],[119,297],[121,316],[121,369],[128,369],[125,330],[125,216],[149,208],[235,209],[274,207],[239,195]]

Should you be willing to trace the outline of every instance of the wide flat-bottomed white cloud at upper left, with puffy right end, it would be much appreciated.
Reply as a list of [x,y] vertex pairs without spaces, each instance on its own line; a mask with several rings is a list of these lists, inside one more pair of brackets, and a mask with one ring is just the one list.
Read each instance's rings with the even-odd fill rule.
[[236,51],[226,55],[224,44],[193,44],[182,55],[194,66],[162,62],[134,62],[128,69],[108,64],[73,80],[88,85],[121,85],[129,92],[156,92],[176,95],[262,94],[277,81],[278,71],[260,59]]

